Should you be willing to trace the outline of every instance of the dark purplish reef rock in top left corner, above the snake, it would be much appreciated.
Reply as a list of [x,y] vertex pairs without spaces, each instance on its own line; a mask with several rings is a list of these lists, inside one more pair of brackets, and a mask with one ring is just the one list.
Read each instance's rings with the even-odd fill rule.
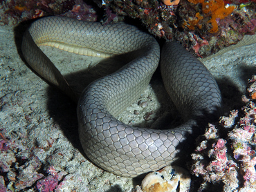
[[82,0],[1,1],[0,25],[16,25],[21,21],[48,15],[65,15],[86,21],[96,21],[95,10]]

